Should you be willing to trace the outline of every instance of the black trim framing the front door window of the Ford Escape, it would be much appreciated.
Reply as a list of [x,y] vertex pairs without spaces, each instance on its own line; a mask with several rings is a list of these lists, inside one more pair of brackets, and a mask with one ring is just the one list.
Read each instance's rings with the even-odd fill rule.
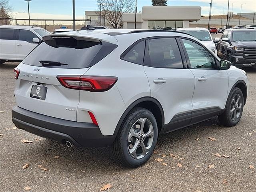
[[[195,40],[193,40],[193,39],[190,39],[190,38],[179,37],[179,39],[180,39],[180,43],[181,43],[181,45],[182,45],[184,54],[185,54],[185,56],[186,56],[186,61],[187,61],[187,64],[188,64],[188,68],[189,68],[189,69],[220,70],[220,62],[218,61],[218,59],[216,58],[216,56],[215,56],[214,54],[212,54],[212,53],[206,48],[206,46],[204,46],[203,44],[200,44],[200,43],[198,43],[197,41],[195,41]],[[187,51],[186,51],[186,48],[185,48],[185,46],[184,46],[184,43],[182,42],[182,39],[190,40],[190,41],[192,41],[192,42],[194,42],[194,43],[197,43],[197,44],[199,44],[200,46],[202,46],[206,51],[208,51],[208,53],[210,53],[210,54],[213,56],[214,60],[215,60],[215,67],[216,67],[216,68],[192,68],[192,67],[191,67],[191,64],[190,64],[189,57],[188,57],[188,53],[187,53]]]

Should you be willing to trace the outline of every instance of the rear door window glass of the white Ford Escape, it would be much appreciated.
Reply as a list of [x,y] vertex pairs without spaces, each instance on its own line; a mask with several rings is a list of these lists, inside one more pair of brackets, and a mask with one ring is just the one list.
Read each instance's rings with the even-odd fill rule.
[[157,68],[183,68],[176,39],[150,39],[144,65]]

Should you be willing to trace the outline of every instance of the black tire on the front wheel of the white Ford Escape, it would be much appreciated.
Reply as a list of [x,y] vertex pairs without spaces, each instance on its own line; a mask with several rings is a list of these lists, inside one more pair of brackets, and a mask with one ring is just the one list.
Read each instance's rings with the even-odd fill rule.
[[[236,118],[236,120],[234,120],[232,119],[232,112],[231,112],[231,108],[234,107],[232,99],[234,98],[234,96],[237,96],[237,95],[241,96],[239,100],[241,101],[241,110],[240,110],[239,116]],[[244,109],[244,95],[240,90],[240,88],[235,87],[230,93],[230,95],[228,96],[225,111],[218,116],[218,119],[220,123],[224,126],[229,126],[229,127],[235,126],[236,124],[238,124],[238,122],[242,117],[243,109]]]

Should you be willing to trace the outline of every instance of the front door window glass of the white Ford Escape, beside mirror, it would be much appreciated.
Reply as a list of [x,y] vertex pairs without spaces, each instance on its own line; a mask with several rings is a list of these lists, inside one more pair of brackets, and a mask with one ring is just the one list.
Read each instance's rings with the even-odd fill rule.
[[191,68],[194,69],[213,69],[216,68],[215,58],[204,47],[196,42],[182,39]]

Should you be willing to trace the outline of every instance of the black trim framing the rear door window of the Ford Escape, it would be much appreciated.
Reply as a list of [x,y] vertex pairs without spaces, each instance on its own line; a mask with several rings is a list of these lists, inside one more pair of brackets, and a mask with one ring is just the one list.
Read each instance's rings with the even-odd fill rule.
[[[148,53],[148,52],[146,52],[146,50],[148,50],[148,48],[149,48],[149,40],[150,40],[150,39],[162,39],[162,38],[172,38],[172,39],[175,39],[175,40],[176,40],[178,49],[179,49],[179,51],[180,51],[180,57],[181,57],[181,60],[182,60],[182,66],[183,66],[182,68],[155,67],[155,66],[147,66],[147,65],[144,65],[144,61],[145,61],[145,58],[146,58],[146,54]],[[154,37],[148,37],[148,38],[146,38],[143,65],[144,65],[144,66],[147,66],[147,67],[160,68],[160,69],[187,69],[187,61],[186,61],[184,52],[183,52],[183,50],[182,50],[182,48],[181,48],[180,46],[181,46],[181,44],[178,42],[178,36],[154,36]],[[182,52],[183,52],[183,54],[182,54]],[[147,55],[147,57],[148,57],[148,55]]]

